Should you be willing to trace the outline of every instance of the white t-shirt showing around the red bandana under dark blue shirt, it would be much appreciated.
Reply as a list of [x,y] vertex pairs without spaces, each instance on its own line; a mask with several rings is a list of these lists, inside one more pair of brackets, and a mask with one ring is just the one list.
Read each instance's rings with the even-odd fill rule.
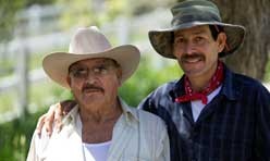
[[[217,96],[220,92],[221,87],[222,86],[219,86],[210,95],[207,96],[207,100],[208,100],[207,103],[209,103],[214,98],[214,96]],[[199,117],[199,114],[200,114],[201,110],[205,108],[205,106],[206,104],[204,104],[201,102],[201,100],[192,101],[192,110],[193,110],[194,122],[197,121],[197,119]]]

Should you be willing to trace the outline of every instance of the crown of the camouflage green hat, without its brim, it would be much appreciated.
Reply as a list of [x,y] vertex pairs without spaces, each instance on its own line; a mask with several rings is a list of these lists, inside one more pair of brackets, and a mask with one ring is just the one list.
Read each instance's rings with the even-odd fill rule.
[[172,26],[193,22],[221,22],[218,7],[208,0],[186,0],[171,9]]

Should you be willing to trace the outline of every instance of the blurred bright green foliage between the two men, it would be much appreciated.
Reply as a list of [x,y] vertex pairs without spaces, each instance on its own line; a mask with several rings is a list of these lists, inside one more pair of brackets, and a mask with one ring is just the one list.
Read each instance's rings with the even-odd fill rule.
[[161,84],[182,75],[176,61],[163,59],[160,62],[143,58],[137,72],[120,88],[120,96],[136,107],[148,94]]

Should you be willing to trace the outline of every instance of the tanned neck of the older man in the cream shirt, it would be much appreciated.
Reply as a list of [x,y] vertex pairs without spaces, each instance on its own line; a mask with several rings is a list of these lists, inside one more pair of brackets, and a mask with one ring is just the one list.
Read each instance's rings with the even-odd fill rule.
[[112,103],[105,104],[79,104],[79,115],[84,124],[87,123],[106,123],[116,120],[122,113],[120,103],[115,100]]

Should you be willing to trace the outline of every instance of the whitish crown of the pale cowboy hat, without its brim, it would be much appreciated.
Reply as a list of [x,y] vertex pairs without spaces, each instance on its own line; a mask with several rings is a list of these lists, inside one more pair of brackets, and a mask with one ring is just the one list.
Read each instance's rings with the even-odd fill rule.
[[88,54],[98,53],[111,49],[109,40],[96,26],[79,28],[72,37],[70,53]]

